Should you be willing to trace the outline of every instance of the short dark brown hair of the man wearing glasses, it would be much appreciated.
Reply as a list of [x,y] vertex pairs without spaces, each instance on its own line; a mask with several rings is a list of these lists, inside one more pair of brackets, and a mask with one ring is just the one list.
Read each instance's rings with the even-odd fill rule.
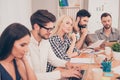
[[35,13],[32,14],[30,21],[33,29],[33,25],[35,23],[45,25],[48,22],[55,22],[56,17],[48,10],[37,10]]

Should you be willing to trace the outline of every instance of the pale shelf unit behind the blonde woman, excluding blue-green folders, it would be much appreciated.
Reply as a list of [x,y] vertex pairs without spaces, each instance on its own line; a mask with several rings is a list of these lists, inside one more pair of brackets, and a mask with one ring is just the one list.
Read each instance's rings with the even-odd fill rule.
[[62,15],[69,15],[76,19],[77,12],[83,8],[83,0],[68,0],[68,6],[59,7],[58,17]]

